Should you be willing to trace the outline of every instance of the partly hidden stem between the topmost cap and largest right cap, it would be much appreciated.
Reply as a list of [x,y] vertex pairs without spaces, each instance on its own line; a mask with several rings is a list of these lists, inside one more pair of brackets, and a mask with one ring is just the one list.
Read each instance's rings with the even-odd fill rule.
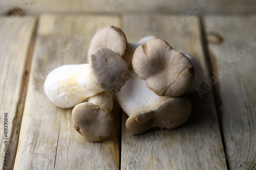
[[133,61],[133,54],[138,46],[141,44],[146,43],[146,41],[152,39],[152,38],[157,38],[156,36],[150,35],[150,36],[145,36],[138,40],[136,43],[130,43],[127,42],[126,46],[126,53],[124,55],[124,61],[128,64],[129,69],[132,69],[132,61]]

